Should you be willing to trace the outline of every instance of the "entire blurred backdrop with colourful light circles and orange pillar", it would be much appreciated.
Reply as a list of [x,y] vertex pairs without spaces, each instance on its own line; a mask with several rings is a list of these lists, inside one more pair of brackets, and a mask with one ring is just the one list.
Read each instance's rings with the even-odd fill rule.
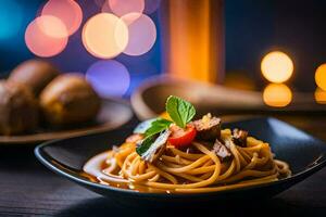
[[129,98],[145,79],[170,73],[268,90],[267,98],[281,92],[277,106],[292,91],[323,104],[325,8],[319,0],[1,0],[0,72],[40,58],[86,74],[102,97]]

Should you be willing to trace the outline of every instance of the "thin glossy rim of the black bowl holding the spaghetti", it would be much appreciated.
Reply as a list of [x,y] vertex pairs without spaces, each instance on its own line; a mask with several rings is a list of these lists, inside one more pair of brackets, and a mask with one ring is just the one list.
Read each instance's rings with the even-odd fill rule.
[[[273,118],[273,117],[256,117],[256,118],[250,118],[250,119],[275,119],[275,120],[281,122],[277,118]],[[285,124],[287,124],[287,123],[285,123]],[[291,126],[291,127],[293,127],[293,126]],[[293,128],[296,128],[296,127],[293,127]],[[296,128],[296,129],[298,129],[298,128]],[[300,131],[302,131],[302,130],[300,130]],[[87,136],[82,136],[82,137],[87,137]],[[74,139],[74,138],[70,138],[70,139]],[[314,139],[316,139],[316,138],[314,138]],[[105,190],[109,190],[109,191],[114,191],[114,192],[124,193],[124,194],[133,194],[133,195],[137,195],[137,196],[145,196],[145,197],[147,197],[147,196],[155,196],[155,197],[203,196],[203,195],[213,195],[213,194],[218,194],[218,193],[230,193],[230,192],[234,192],[234,191],[246,191],[246,190],[251,190],[251,189],[259,189],[259,188],[264,188],[264,187],[267,187],[267,186],[280,184],[280,183],[284,183],[284,182],[296,180],[297,178],[301,178],[301,177],[303,177],[303,179],[305,179],[310,175],[321,170],[323,167],[326,166],[326,152],[322,152],[321,153],[322,155],[317,159],[315,159],[315,163],[313,165],[308,165],[303,170],[301,170],[301,171],[299,171],[294,175],[291,175],[290,177],[283,178],[283,179],[276,180],[276,181],[271,181],[271,182],[266,182],[266,183],[260,183],[260,184],[254,184],[254,186],[249,186],[249,187],[243,187],[243,188],[237,188],[237,189],[212,191],[212,192],[199,192],[199,193],[154,193],[153,192],[153,193],[149,193],[149,192],[139,192],[139,191],[135,191],[135,190],[131,190],[131,189],[121,189],[121,188],[116,188],[116,187],[111,187],[111,186],[97,183],[97,182],[87,180],[85,178],[82,178],[80,176],[76,176],[76,175],[66,173],[66,171],[60,169],[59,167],[54,166],[53,164],[50,163],[50,161],[47,159],[50,156],[47,155],[47,154],[45,154],[45,155],[42,154],[42,149],[47,145],[60,142],[62,140],[65,140],[65,139],[58,139],[58,140],[47,141],[47,142],[43,142],[43,143],[41,143],[41,144],[39,144],[35,148],[34,153],[35,153],[37,159],[41,164],[43,164],[47,168],[49,168],[50,170],[54,171],[58,175],[61,175],[61,176],[67,178],[68,180],[73,180],[76,183],[90,186],[90,187],[98,188],[98,189],[105,189]],[[321,141],[319,139],[316,139],[316,140]],[[54,158],[52,158],[52,159],[54,159]]]

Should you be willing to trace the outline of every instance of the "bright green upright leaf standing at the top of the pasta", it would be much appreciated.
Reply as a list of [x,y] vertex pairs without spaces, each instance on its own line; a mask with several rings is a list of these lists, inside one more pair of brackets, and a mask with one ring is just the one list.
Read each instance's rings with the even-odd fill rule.
[[167,98],[165,107],[173,122],[181,128],[185,128],[196,115],[196,110],[190,102],[175,95]]

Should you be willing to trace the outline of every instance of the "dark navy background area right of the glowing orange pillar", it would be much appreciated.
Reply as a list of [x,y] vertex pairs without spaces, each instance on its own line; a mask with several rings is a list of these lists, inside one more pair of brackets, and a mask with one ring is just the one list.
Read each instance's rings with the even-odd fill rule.
[[326,62],[325,9],[323,0],[226,0],[226,71],[261,78],[263,55],[277,49],[294,63],[294,88],[314,90],[315,69]]

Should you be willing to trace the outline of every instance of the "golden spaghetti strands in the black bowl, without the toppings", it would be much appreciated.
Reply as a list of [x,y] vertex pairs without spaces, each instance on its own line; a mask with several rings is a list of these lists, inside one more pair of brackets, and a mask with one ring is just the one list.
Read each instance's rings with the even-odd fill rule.
[[[172,145],[153,163],[141,159],[136,143],[126,142],[105,152],[97,180],[104,184],[139,191],[199,193],[242,188],[290,176],[287,163],[274,159],[268,143],[247,138],[247,146],[231,142],[231,131],[221,131],[230,141],[231,159],[222,162],[206,143],[193,141],[191,149]],[[159,153],[158,153],[159,154]],[[91,162],[91,161],[90,161]],[[85,170],[93,174],[86,164]]]

